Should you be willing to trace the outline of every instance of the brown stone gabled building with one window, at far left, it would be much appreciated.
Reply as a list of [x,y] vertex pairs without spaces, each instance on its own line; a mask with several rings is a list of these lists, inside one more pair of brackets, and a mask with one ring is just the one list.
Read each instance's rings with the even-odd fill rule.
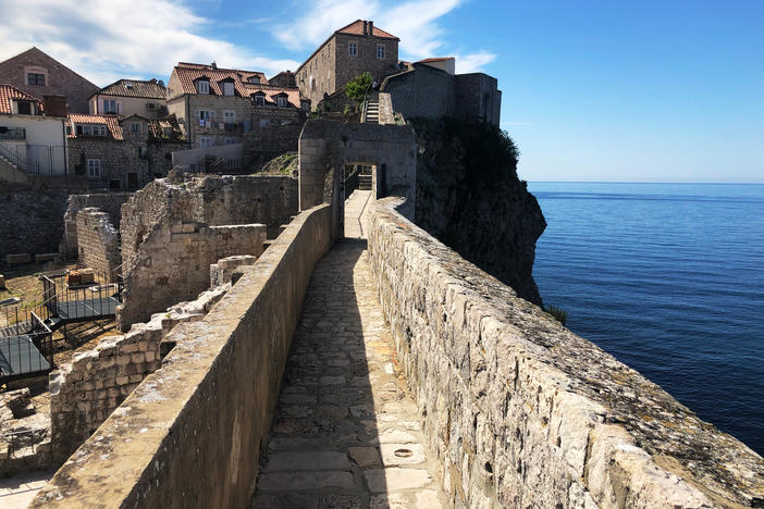
[[37,48],[0,62],[2,82],[34,97],[64,96],[66,109],[88,113],[88,98],[98,87]]

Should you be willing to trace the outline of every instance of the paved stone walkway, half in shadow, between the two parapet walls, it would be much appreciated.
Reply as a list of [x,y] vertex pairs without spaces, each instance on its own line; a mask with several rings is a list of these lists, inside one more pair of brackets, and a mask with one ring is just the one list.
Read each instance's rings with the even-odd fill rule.
[[252,507],[445,507],[424,444],[366,241],[342,240],[310,281]]

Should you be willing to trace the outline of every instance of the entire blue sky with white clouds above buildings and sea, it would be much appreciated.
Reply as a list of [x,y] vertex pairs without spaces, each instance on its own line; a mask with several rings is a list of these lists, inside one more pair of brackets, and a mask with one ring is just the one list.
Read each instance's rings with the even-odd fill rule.
[[761,0],[0,0],[0,61],[37,46],[99,86],[178,61],[270,77],[357,18],[404,60],[498,78],[521,178],[764,183]]

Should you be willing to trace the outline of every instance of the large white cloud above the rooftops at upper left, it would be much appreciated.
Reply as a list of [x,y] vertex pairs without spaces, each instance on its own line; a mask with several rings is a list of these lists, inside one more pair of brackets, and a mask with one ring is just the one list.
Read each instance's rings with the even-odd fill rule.
[[165,77],[178,61],[268,75],[299,65],[205,37],[207,20],[172,0],[3,0],[2,11],[0,61],[37,46],[100,86]]

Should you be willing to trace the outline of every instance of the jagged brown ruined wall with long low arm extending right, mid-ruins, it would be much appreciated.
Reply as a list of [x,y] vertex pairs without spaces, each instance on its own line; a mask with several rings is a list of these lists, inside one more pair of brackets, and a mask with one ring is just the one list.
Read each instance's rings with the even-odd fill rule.
[[137,258],[123,266],[124,291],[116,309],[120,328],[149,319],[209,287],[210,265],[232,254],[262,253],[266,225],[209,226],[167,218],[140,243]]

